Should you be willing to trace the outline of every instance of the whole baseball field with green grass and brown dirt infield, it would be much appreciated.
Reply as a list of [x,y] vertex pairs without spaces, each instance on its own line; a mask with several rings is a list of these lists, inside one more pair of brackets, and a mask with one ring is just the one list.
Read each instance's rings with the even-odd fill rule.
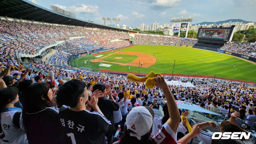
[[[93,60],[94,58],[94,60]],[[86,64],[85,64],[85,60]],[[104,60],[104,62],[103,62]],[[175,60],[175,66],[174,66]],[[208,50],[162,45],[134,45],[105,53],[88,55],[71,61],[76,67],[95,71],[165,73],[191,77],[227,78],[256,82],[256,64],[244,59]],[[142,67],[141,67],[142,62]],[[99,66],[103,64],[103,66]],[[236,65],[236,66],[234,66]],[[129,69],[130,67],[130,69]],[[197,76],[196,76],[197,75]]]

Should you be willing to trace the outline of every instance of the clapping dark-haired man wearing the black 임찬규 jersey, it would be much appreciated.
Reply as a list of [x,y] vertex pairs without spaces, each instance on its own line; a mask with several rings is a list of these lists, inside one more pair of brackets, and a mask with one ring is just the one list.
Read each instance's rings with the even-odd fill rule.
[[[88,94],[86,84],[77,79],[59,87],[57,102],[59,106],[62,105],[58,119],[63,140],[61,143],[106,143],[105,134],[111,123],[97,105],[98,96],[102,95],[102,92],[95,90],[90,101]],[[87,102],[94,112],[87,110]]]

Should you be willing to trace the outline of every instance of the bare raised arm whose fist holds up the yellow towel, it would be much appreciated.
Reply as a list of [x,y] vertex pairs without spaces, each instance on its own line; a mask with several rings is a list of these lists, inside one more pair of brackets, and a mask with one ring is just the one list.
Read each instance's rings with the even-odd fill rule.
[[168,85],[166,84],[164,77],[157,76],[155,77],[155,81],[156,84],[154,85],[163,90],[167,100],[167,107],[170,118],[167,120],[166,124],[168,124],[170,128],[174,131],[174,133],[176,133],[179,126],[180,115],[174,96],[170,91]]

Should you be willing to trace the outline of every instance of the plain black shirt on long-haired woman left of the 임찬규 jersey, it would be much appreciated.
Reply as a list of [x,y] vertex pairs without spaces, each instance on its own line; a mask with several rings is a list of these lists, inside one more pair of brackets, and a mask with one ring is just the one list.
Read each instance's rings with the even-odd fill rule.
[[33,114],[23,112],[29,144],[56,144],[60,140],[58,109],[49,107]]

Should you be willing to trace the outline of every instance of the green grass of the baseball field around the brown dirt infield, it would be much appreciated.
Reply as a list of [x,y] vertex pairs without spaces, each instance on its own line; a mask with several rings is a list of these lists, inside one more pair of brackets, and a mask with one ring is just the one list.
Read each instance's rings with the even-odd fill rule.
[[[132,47],[124,48],[123,51],[142,52],[150,55],[154,55],[157,59],[156,63],[148,68],[141,67],[140,73],[149,73],[153,70],[155,73],[168,73],[172,74],[174,60],[174,74],[190,74],[190,75],[206,75],[215,76],[222,78],[230,78],[236,80],[245,80],[256,82],[256,65],[248,61],[216,53],[212,51],[188,48],[188,47],[177,47],[177,46],[162,46],[162,45],[135,45]],[[191,50],[191,51],[190,51]],[[110,53],[117,52],[106,52],[98,55],[107,56]],[[110,64],[110,67],[98,66],[102,62],[96,62],[84,64],[84,60],[92,60],[97,55],[88,55],[75,59],[77,67],[87,67],[93,70],[99,71],[104,70],[115,70],[115,71],[127,71],[138,73],[137,66],[121,66],[119,64]],[[102,56],[102,57],[104,57]],[[129,58],[131,55],[127,55]],[[123,55],[122,55],[123,57]],[[108,57],[106,57],[108,58]],[[125,57],[123,57],[125,58]],[[116,59],[117,60],[117,59]],[[111,60],[107,60],[111,61]],[[234,64],[236,65],[234,67]],[[71,65],[74,66],[73,61]]]

